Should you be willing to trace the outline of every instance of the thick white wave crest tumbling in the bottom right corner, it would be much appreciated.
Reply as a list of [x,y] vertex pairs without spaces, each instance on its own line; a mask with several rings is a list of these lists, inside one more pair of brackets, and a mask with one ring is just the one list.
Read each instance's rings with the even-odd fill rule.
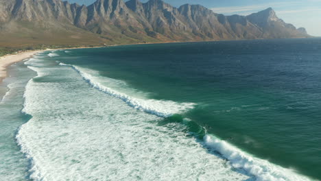
[[204,136],[204,143],[215,149],[227,158],[231,165],[237,169],[243,169],[247,173],[255,176],[257,181],[308,181],[311,180],[305,176],[300,176],[292,169],[285,169],[278,165],[274,165],[267,160],[254,158],[241,149],[222,141],[221,139],[206,134]]

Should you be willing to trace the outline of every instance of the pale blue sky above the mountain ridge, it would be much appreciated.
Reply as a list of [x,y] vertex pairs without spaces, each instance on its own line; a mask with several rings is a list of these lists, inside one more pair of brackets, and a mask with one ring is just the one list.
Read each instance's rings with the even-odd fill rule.
[[[89,5],[95,0],[68,0]],[[126,1],[126,0],[125,0]],[[148,0],[141,0],[146,2]],[[248,15],[273,8],[278,18],[296,27],[305,27],[308,34],[321,36],[321,0],[163,0],[179,7],[185,3],[200,4],[225,15]]]

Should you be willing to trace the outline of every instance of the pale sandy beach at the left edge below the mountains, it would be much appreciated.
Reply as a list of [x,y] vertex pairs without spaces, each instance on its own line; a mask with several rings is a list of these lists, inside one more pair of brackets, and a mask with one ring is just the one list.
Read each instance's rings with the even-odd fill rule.
[[35,51],[25,51],[22,53],[17,53],[14,55],[8,55],[0,57],[0,82],[7,76],[6,68],[15,62],[20,62],[27,58],[31,58],[36,53],[39,53],[44,50],[35,50]]

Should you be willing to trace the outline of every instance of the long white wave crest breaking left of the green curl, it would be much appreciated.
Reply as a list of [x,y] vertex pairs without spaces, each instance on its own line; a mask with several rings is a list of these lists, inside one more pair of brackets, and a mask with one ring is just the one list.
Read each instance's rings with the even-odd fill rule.
[[97,77],[86,73],[82,68],[71,65],[71,64],[63,64],[62,66],[69,66],[75,69],[80,75],[86,80],[91,86],[107,93],[108,95],[112,95],[113,97],[117,97],[126,102],[129,106],[137,110],[141,110],[150,114],[155,114],[158,117],[171,117],[173,114],[178,114],[185,112],[195,106],[193,103],[182,103],[178,104],[175,101],[163,101],[156,99],[137,99],[134,97],[130,97],[124,93],[119,93],[116,90],[112,90],[112,88],[108,88],[103,86],[100,82],[97,81]]

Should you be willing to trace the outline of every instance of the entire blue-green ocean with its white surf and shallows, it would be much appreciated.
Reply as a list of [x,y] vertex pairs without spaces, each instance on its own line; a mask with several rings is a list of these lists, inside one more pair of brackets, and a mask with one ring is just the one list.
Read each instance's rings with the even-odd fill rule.
[[0,85],[0,180],[320,180],[320,57],[320,38],[39,53]]

